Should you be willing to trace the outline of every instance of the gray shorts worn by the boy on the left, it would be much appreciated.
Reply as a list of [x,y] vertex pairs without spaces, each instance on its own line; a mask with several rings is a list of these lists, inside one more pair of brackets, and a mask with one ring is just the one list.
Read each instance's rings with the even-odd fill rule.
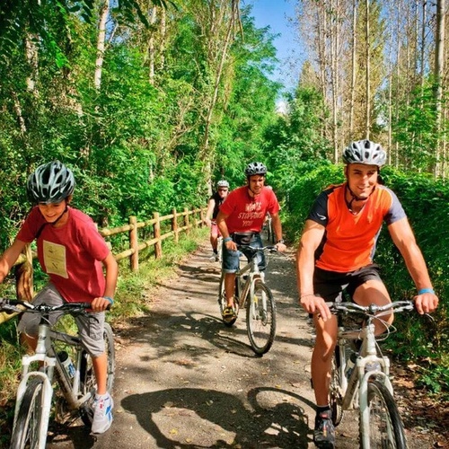
[[[32,304],[48,304],[58,305],[65,303],[64,298],[59,295],[57,288],[53,284],[44,286]],[[48,320],[53,326],[57,320],[64,314],[64,312],[50,313]],[[104,339],[103,339],[103,324],[104,312],[89,313],[92,318],[84,315],[77,315],[74,317],[81,342],[86,351],[92,357],[100,357],[104,353]],[[95,317],[95,318],[93,318]],[[18,329],[20,332],[30,335],[31,337],[38,336],[38,328],[40,323],[40,313],[25,312],[22,314],[21,321],[19,321]]]

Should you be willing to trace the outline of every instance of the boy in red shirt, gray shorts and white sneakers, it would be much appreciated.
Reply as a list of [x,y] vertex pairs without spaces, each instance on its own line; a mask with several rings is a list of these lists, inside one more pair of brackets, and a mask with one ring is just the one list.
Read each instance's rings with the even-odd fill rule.
[[[107,356],[103,341],[104,310],[113,303],[118,266],[89,216],[69,207],[75,178],[63,163],[40,165],[27,182],[29,198],[37,206],[25,219],[13,244],[0,259],[0,282],[13,267],[27,243],[37,241],[38,258],[49,282],[34,304],[92,303],[92,315],[75,318],[80,337],[92,356],[97,381],[92,433],[101,434],[112,422],[113,401],[106,390]],[[103,275],[103,268],[105,275]],[[50,316],[54,324],[60,313]],[[36,348],[40,316],[23,313],[18,329],[22,341]]]

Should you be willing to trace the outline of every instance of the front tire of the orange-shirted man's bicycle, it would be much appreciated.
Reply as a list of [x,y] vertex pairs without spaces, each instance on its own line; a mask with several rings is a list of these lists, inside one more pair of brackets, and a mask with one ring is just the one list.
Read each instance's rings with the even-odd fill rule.
[[[360,435],[360,447],[407,449],[401,415],[387,387],[377,380],[368,383],[369,444],[365,447]],[[361,428],[361,427],[360,427]],[[368,427],[367,427],[368,428]]]

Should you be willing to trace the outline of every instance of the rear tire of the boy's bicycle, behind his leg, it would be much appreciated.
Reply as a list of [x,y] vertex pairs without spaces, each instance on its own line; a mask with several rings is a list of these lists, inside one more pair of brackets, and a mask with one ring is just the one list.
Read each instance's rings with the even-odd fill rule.
[[[114,334],[108,322],[104,323],[103,339],[106,355],[108,357],[108,377],[106,380],[106,389],[112,392],[115,378],[115,348],[114,348]],[[93,372],[92,357],[87,351],[82,351],[82,362],[80,370],[81,393],[82,395],[92,392],[92,397],[86,401],[80,409],[81,418],[85,427],[92,427],[93,419],[93,400],[97,388],[95,373]]]

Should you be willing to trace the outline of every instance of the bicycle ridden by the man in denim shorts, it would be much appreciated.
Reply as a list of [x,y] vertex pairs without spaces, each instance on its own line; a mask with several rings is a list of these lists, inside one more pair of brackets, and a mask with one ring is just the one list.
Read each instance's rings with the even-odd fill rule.
[[276,304],[269,289],[265,284],[264,273],[260,271],[256,255],[258,252],[276,252],[274,246],[254,248],[241,245],[239,250],[249,252],[249,262],[235,273],[235,318],[226,320],[223,311],[227,306],[225,295],[225,273],[222,273],[218,288],[218,304],[220,314],[225,326],[231,327],[237,320],[240,309],[246,308],[246,330],[252,350],[262,356],[273,345],[276,334]]

